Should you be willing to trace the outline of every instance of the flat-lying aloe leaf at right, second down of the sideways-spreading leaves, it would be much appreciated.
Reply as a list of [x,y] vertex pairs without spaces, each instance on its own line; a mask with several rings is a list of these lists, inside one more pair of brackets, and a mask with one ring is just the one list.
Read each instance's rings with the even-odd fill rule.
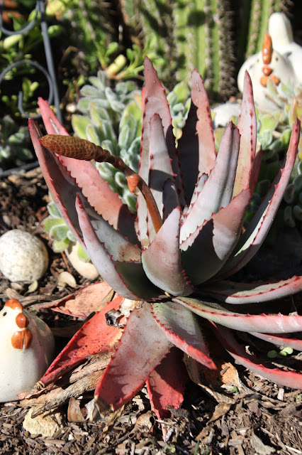
[[[302,330],[302,316],[291,314],[242,314],[223,307],[206,304],[200,300],[178,297],[173,299],[198,316],[228,328],[245,332],[293,333]],[[214,306],[215,305],[215,306]]]

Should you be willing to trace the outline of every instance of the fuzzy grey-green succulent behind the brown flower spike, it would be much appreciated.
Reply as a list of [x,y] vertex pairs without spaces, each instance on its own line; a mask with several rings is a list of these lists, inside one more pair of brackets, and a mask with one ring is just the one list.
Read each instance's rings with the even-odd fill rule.
[[[74,133],[104,146],[138,169],[141,130],[140,91],[134,82],[119,82],[114,90],[108,86],[104,71],[89,77],[91,85],[81,90],[77,109],[82,114],[72,116]],[[101,176],[123,201],[135,211],[135,197],[130,194],[123,173],[110,164],[96,164]]]

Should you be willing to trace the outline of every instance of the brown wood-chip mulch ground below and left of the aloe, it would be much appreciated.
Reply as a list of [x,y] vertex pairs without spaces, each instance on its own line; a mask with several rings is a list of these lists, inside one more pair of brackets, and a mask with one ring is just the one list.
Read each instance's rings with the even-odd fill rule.
[[[40,228],[41,220],[47,216],[47,201],[39,168],[2,178],[0,235],[19,228],[39,235],[49,246],[47,235]],[[55,254],[50,247],[48,251],[50,267],[35,289],[29,284],[11,283],[0,275],[3,303],[16,297],[30,310],[37,302],[59,299],[88,284],[67,264],[64,255]],[[62,271],[72,273],[77,288],[57,287]],[[49,309],[40,309],[38,316],[60,335],[56,336],[57,350],[68,341],[62,333],[68,328],[72,331],[78,324],[69,316],[54,316]],[[83,417],[92,391],[77,400],[67,400],[58,407],[63,421],[52,437],[30,434],[23,428],[28,413],[24,403],[2,403],[0,454],[302,454],[301,390],[278,387],[235,365],[225,351],[223,356],[224,370],[231,373],[232,379],[219,385],[199,371],[200,383],[188,382],[181,410],[172,410],[171,417],[162,421],[150,409],[145,387],[121,411],[95,422]],[[224,373],[221,371],[220,375]],[[74,412],[71,405],[75,406]]]

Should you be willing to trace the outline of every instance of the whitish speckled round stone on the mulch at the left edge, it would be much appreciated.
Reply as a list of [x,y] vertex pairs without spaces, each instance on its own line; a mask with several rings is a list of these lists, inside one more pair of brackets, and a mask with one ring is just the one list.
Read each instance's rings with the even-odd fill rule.
[[35,235],[14,229],[0,237],[0,271],[11,282],[40,279],[47,266],[47,249]]

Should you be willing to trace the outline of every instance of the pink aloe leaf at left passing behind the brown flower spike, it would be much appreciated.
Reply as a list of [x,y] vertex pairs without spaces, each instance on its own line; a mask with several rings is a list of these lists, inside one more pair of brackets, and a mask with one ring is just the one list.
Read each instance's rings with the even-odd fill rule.
[[[39,98],[38,105],[47,134],[68,136],[47,101]],[[82,190],[91,207],[113,228],[120,230],[131,242],[137,243],[138,237],[134,228],[135,215],[130,213],[118,194],[111,190],[108,182],[101,178],[96,167],[90,161],[79,161],[67,156],[60,156],[59,160],[77,182],[77,186]]]

